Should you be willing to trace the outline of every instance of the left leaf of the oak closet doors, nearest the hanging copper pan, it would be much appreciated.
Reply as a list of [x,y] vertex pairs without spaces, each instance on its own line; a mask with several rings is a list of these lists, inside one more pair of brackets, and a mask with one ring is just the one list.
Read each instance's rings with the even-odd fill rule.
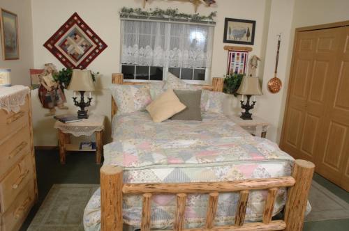
[[281,137],[281,148],[296,159],[316,163],[340,35],[339,28],[297,33]]

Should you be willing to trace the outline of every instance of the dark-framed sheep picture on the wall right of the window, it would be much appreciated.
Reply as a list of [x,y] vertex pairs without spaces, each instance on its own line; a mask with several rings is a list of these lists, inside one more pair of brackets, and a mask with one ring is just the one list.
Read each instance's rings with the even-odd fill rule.
[[254,41],[254,20],[225,18],[223,42],[253,45]]

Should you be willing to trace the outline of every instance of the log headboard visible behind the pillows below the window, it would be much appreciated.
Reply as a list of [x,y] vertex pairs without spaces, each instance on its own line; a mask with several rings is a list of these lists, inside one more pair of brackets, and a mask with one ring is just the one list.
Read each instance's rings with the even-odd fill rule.
[[[114,73],[112,74],[112,83],[116,84],[124,84],[124,85],[136,85],[136,84],[148,84],[147,82],[125,82],[124,74]],[[213,90],[213,91],[223,91],[223,78],[213,78],[212,85],[196,85],[201,86],[202,89]],[[112,98],[112,118],[117,113],[117,104]]]

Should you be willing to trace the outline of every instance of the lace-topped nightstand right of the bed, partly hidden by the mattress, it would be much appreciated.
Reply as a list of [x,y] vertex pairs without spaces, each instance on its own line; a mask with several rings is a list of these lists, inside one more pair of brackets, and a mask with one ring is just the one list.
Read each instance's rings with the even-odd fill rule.
[[253,136],[260,136],[262,138],[267,136],[267,129],[270,124],[258,116],[252,116],[253,120],[243,120],[237,115],[229,116],[229,118]]

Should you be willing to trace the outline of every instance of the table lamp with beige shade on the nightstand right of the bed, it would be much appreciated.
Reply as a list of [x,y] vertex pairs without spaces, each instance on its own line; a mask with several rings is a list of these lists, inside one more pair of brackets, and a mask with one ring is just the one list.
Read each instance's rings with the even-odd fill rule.
[[[252,120],[252,113],[249,111],[253,109],[255,106],[255,97],[254,95],[262,95],[262,90],[260,89],[260,82],[258,78],[256,77],[246,77],[242,78],[242,83],[237,89],[237,94],[242,95],[242,100],[241,102],[241,107],[242,109],[245,109],[244,112],[242,112],[242,115],[240,118],[243,120]],[[244,95],[247,97],[247,102],[244,104]],[[250,98],[253,95],[253,101],[252,104],[250,105]]]

